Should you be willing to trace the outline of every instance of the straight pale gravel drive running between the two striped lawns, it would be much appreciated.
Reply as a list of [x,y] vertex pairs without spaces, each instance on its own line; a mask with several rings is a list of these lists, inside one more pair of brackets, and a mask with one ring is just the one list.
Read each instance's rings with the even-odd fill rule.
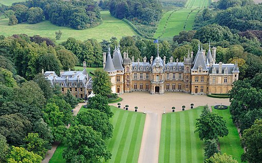
[[161,113],[147,112],[142,143],[138,157],[139,163],[157,163],[160,145]]

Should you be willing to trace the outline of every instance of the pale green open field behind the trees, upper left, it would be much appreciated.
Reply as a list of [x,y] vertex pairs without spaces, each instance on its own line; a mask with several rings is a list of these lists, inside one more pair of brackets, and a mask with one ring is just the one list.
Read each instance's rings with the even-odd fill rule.
[[99,42],[109,40],[111,37],[121,39],[123,36],[134,36],[137,33],[124,21],[114,18],[110,15],[109,11],[101,11],[103,23],[86,30],[74,30],[66,27],[56,26],[49,21],[42,21],[37,24],[21,23],[9,26],[8,19],[0,20],[0,35],[11,36],[13,34],[27,34],[29,36],[40,35],[42,37],[49,37],[55,40],[55,32],[60,30],[62,32],[61,40],[67,40],[69,37],[74,37],[78,40],[87,40],[95,38]]

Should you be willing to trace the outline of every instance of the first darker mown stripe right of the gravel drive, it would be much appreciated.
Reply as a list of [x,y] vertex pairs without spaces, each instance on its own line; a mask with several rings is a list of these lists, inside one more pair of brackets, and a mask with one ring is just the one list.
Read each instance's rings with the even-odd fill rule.
[[169,162],[170,155],[170,124],[171,123],[171,115],[166,115],[166,137],[165,137],[165,158],[164,162]]

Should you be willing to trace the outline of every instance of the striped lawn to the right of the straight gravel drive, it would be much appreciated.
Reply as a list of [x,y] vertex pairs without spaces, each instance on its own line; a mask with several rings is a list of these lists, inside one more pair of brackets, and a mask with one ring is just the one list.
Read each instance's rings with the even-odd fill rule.
[[204,162],[204,142],[194,133],[203,106],[162,116],[159,162]]

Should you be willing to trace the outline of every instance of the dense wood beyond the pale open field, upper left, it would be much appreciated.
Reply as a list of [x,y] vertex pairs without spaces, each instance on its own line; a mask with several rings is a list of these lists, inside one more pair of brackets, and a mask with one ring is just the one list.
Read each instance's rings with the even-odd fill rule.
[[[58,26],[83,30],[101,23],[100,9],[90,0],[33,0],[15,3],[10,7],[18,23],[37,23],[44,19]],[[10,13],[10,12],[9,12]],[[6,15],[10,15],[7,13]],[[14,19],[14,18],[13,18]],[[12,22],[14,22],[12,19]]]

